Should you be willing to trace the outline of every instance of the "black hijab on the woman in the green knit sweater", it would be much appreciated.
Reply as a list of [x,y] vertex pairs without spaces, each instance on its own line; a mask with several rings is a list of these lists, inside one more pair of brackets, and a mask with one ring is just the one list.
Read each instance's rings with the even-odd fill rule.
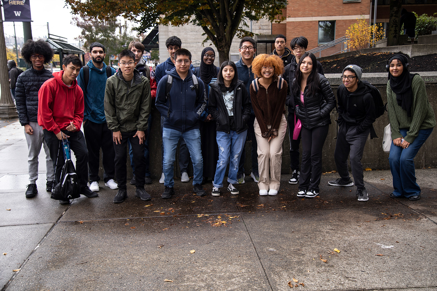
[[394,77],[390,72],[388,72],[390,88],[392,88],[392,91],[396,93],[396,101],[398,102],[398,105],[401,106],[403,110],[406,110],[408,117],[411,117],[411,106],[413,105],[413,89],[411,88],[411,82],[413,81],[414,75],[418,74],[410,74],[406,68],[408,59],[405,55],[393,55],[388,59],[387,65],[390,65],[390,63],[395,59],[398,59],[404,68],[399,77]]

